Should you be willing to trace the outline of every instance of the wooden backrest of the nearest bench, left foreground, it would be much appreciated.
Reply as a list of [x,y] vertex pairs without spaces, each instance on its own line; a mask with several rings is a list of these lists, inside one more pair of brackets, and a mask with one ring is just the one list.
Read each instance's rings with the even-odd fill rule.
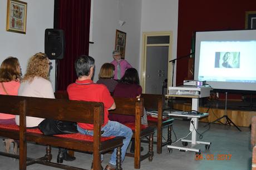
[[0,113],[20,114],[23,111],[26,116],[60,121],[93,124],[94,117],[99,116],[102,124],[103,108],[100,102],[0,95]]

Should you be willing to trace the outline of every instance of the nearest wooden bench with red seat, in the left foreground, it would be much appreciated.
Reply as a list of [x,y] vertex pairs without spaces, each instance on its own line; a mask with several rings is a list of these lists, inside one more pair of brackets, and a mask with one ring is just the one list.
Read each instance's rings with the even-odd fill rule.
[[[117,148],[116,169],[122,169],[121,146],[124,137],[101,137],[101,125],[104,121],[103,103],[0,95],[0,113],[16,114],[20,117],[19,127],[14,124],[0,124],[0,136],[19,139],[19,156],[4,152],[0,152],[0,155],[19,158],[19,169],[26,169],[34,163],[63,169],[81,169],[51,162],[51,146],[93,152],[94,169],[101,167],[101,153]],[[75,133],[45,136],[39,129],[26,128],[26,116],[91,123],[95,135]],[[27,142],[46,145],[46,155],[37,159],[27,158]]]

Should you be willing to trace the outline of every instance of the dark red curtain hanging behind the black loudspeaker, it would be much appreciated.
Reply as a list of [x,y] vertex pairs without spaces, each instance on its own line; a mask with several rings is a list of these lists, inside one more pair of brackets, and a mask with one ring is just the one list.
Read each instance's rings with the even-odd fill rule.
[[57,61],[57,91],[67,89],[75,82],[75,59],[88,54],[91,0],[59,0],[57,4],[57,28],[65,35],[65,55]]

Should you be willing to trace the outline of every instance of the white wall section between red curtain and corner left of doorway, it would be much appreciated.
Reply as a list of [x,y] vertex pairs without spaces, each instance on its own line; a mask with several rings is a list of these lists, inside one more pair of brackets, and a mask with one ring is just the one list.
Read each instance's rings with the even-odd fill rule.
[[[97,81],[100,67],[111,62],[116,29],[126,32],[125,59],[136,69],[140,61],[141,0],[92,0],[89,55],[95,58]],[[125,21],[124,26],[119,20]]]

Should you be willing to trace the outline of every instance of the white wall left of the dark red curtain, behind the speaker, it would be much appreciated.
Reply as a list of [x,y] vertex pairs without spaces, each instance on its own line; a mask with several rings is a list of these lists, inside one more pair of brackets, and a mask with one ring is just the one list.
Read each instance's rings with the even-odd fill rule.
[[[7,0],[0,0],[0,63],[8,56],[17,57],[22,73],[26,73],[28,58],[45,51],[45,29],[53,28],[53,0],[22,0],[27,2],[26,34],[6,31]],[[55,84],[55,61],[50,79]]]

